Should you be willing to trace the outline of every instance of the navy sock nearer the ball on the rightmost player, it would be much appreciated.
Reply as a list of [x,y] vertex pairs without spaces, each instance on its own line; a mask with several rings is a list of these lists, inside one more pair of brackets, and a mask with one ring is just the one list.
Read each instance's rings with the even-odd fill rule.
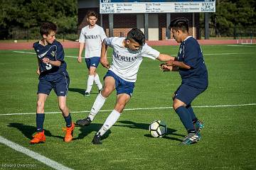
[[188,112],[187,108],[185,108],[184,106],[180,106],[175,111],[188,132],[191,132],[191,130],[196,131],[193,127],[191,114]]

